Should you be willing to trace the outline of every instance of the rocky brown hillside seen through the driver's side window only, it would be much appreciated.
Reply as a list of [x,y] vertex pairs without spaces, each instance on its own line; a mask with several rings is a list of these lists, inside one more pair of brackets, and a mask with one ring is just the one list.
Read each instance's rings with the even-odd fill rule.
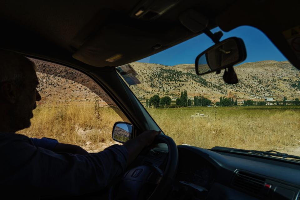
[[[95,102],[100,107],[115,106],[108,95],[85,74],[76,70],[32,59],[37,66],[39,86],[42,96],[39,104],[46,102]],[[100,97],[100,98],[99,98]]]

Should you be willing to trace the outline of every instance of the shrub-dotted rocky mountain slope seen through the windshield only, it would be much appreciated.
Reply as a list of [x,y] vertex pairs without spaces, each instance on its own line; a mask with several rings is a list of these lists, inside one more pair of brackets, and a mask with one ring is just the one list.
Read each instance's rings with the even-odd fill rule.
[[190,97],[203,95],[217,101],[220,97],[275,100],[300,97],[300,71],[288,61],[265,60],[234,67],[239,83],[227,84],[221,74],[197,76],[194,64],[166,66],[153,63],[130,63],[141,84],[130,86],[139,99],[159,96],[180,96],[187,90]]

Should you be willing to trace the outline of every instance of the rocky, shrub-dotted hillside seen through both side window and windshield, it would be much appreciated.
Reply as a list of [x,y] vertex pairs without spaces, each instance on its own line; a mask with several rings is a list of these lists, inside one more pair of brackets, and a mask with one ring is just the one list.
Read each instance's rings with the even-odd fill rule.
[[[32,59],[37,65],[40,81],[39,92],[43,101],[70,102],[99,100],[100,106],[114,103],[92,79],[66,68]],[[140,99],[154,94],[171,97],[180,96],[187,90],[190,97],[203,95],[213,102],[222,96],[238,99],[263,99],[273,97],[282,100],[300,98],[300,71],[289,62],[272,60],[244,63],[235,67],[239,83],[224,83],[221,74],[197,76],[193,64],[165,66],[153,63],[130,63],[138,73],[141,84],[130,86]],[[49,75],[52,74],[52,75]],[[100,96],[101,98],[98,98]]]

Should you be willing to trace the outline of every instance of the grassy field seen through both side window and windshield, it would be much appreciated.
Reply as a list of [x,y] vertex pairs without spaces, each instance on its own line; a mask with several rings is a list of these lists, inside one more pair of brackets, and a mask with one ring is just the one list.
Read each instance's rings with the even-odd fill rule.
[[[90,152],[113,144],[113,124],[122,121],[112,108],[94,103],[48,103],[34,110],[32,126],[19,133],[35,138],[56,138],[82,146]],[[300,107],[193,107],[149,108],[165,134],[177,144],[202,148],[224,146],[255,150],[278,150],[300,146]],[[207,118],[191,118],[195,113]]]

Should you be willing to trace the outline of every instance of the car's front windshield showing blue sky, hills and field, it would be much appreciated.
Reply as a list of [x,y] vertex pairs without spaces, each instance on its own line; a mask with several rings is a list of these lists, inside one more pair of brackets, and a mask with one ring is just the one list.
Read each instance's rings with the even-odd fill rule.
[[239,27],[221,40],[233,36],[247,49],[234,67],[237,84],[225,83],[223,71],[196,75],[195,58],[213,45],[204,34],[117,71],[178,145],[300,155],[299,71],[259,30]]

